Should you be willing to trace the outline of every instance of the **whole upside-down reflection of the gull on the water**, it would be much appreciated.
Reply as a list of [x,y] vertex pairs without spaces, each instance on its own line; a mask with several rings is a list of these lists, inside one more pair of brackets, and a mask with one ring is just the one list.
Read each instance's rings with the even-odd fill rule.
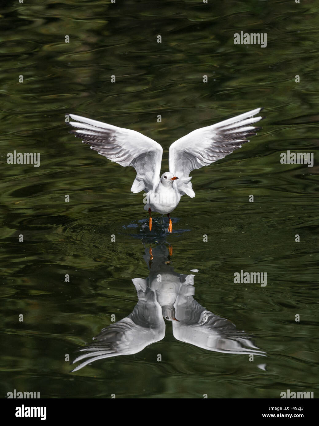
[[165,322],[171,320],[173,335],[181,342],[209,351],[232,354],[264,355],[249,337],[236,329],[225,318],[203,308],[193,298],[194,275],[179,274],[167,262],[165,246],[153,249],[153,260],[143,256],[150,273],[146,279],[133,278],[138,303],[132,314],[103,328],[94,343],[79,349],[82,355],[73,361],[82,361],[73,371],[102,358],[137,354],[148,345],[165,336]]

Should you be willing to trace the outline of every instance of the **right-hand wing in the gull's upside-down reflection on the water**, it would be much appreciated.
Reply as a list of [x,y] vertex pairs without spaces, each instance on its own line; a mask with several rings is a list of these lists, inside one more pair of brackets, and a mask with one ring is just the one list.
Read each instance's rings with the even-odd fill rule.
[[[185,289],[184,289],[185,291]],[[173,335],[181,342],[191,343],[208,351],[232,354],[264,355],[249,337],[225,318],[218,317],[199,305],[193,296],[180,294],[176,300]]]

